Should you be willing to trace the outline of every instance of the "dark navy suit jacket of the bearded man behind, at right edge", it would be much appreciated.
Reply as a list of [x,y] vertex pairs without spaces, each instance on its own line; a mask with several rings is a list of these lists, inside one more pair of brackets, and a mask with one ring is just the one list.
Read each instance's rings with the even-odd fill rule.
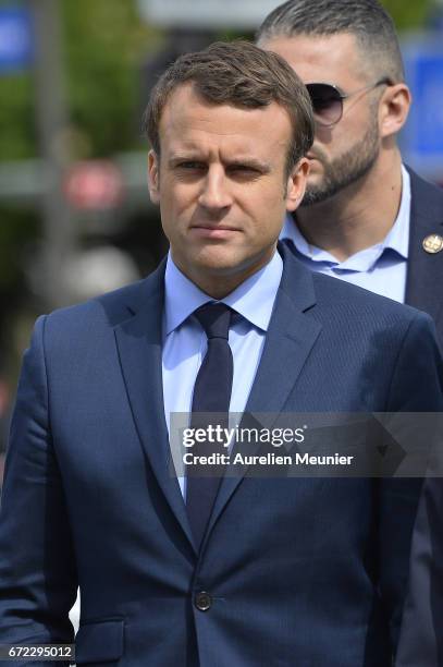
[[[429,313],[443,349],[443,251],[423,250],[443,237],[443,190],[408,168],[411,187],[406,303]],[[397,667],[443,667],[443,480],[426,483],[413,541],[409,594]]]

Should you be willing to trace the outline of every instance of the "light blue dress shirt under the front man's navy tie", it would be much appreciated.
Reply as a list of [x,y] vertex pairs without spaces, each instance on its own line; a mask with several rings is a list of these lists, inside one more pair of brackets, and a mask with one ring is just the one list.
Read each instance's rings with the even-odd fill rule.
[[[259,271],[221,301],[235,311],[229,342],[234,359],[230,412],[243,413],[256,376],[283,272],[279,253]],[[206,333],[194,311],[214,301],[179,270],[168,256],[164,275],[163,312],[163,400],[170,428],[170,413],[190,413],[193,390],[207,350]],[[185,497],[186,485],[179,477]]]

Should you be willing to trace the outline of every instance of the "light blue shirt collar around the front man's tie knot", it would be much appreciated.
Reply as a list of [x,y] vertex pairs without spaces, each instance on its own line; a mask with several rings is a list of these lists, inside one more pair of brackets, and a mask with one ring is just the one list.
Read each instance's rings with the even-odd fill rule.
[[[283,260],[279,253],[259,271],[242,282],[231,294],[221,300],[243,315],[259,329],[267,331],[271,319],[276,291],[283,272]],[[164,331],[180,327],[194,311],[213,301],[192,282],[168,254],[164,274]]]

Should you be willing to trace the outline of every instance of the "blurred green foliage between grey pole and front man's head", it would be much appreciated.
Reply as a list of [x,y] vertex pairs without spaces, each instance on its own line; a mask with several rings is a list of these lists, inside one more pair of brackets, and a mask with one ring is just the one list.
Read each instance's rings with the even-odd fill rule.
[[134,2],[63,0],[71,119],[94,156],[137,142],[139,66],[161,44]]

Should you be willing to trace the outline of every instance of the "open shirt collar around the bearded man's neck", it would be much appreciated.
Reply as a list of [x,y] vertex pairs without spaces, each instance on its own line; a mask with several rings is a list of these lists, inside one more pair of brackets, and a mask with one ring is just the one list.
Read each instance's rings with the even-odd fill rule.
[[286,215],[280,238],[292,241],[298,253],[305,255],[305,257],[308,257],[312,262],[325,262],[343,269],[367,271],[372,268],[387,248],[394,251],[404,259],[407,259],[409,246],[409,218],[410,177],[402,165],[402,198],[398,214],[394,225],[381,243],[364,248],[341,263],[321,247],[309,245],[291,215]]

